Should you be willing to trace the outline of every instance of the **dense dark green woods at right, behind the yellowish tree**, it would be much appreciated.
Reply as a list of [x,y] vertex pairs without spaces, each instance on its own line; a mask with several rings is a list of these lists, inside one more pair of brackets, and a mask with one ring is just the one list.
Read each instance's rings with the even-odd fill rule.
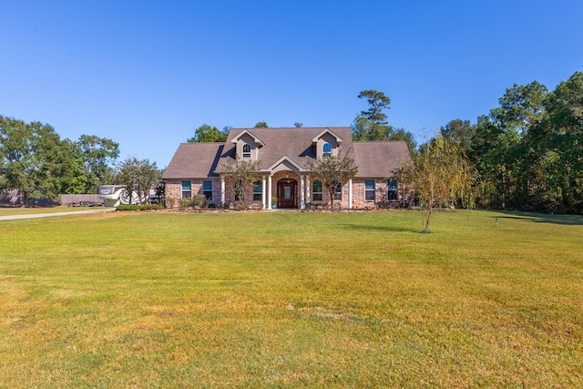
[[476,124],[441,128],[478,173],[476,205],[496,210],[583,212],[583,72],[553,91],[533,81],[507,88]]

